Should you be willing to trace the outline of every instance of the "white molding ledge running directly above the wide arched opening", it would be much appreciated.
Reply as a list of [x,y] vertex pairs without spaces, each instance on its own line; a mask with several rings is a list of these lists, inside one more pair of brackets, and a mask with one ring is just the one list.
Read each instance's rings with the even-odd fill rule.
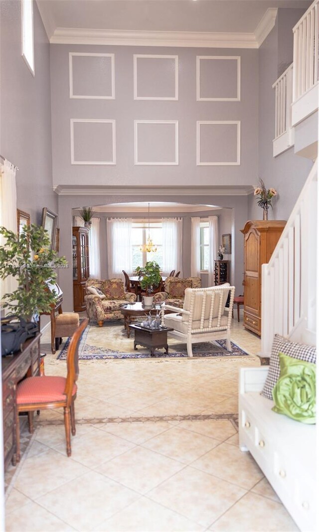
[[250,185],[229,187],[121,187],[89,185],[54,185],[54,192],[59,196],[248,196],[253,192]]

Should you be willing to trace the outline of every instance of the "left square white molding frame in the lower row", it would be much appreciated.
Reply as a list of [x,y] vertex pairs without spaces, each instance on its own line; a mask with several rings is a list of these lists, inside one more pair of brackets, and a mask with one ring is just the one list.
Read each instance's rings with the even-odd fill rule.
[[71,118],[70,141],[71,164],[116,164],[115,120]]

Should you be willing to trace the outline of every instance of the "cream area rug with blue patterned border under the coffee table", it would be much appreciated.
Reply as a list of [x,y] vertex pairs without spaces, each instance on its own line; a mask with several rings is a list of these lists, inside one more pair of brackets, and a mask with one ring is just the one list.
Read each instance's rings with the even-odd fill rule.
[[[66,360],[70,338],[58,354],[58,360]],[[193,358],[218,356],[249,356],[238,345],[231,343],[232,351],[227,351],[226,340],[215,342],[201,342],[193,344]],[[126,331],[120,321],[105,322],[103,327],[95,324],[85,329],[80,345],[79,360],[107,360],[107,359],[159,359],[159,358],[188,358],[186,344],[175,338],[168,338],[168,354],[165,350],[156,350],[151,355],[148,348],[137,346],[134,351],[134,334],[127,338]]]

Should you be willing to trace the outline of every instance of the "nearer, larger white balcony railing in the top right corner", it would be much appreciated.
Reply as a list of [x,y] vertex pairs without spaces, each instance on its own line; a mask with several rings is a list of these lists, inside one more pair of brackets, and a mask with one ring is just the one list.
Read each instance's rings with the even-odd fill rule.
[[293,28],[293,102],[318,82],[319,0]]

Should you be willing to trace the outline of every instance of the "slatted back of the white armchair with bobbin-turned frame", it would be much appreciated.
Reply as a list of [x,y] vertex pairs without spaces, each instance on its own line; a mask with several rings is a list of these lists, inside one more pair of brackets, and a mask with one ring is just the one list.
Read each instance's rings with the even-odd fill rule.
[[[214,309],[212,311],[212,317],[213,318],[217,318],[218,317],[220,294],[222,294],[222,298],[223,298],[223,300],[222,300],[222,314],[224,313],[224,309],[225,309],[225,305],[226,305],[226,301],[227,301],[227,297],[228,297],[229,292],[228,292],[228,290],[222,290],[222,291],[219,290],[219,292],[218,292],[218,289],[219,288],[224,288],[226,286],[230,286],[229,282],[226,282],[224,285],[213,286],[213,287],[211,287],[212,292],[207,292],[206,293],[206,305],[205,305],[205,316],[204,316],[205,320],[209,319],[212,293],[215,293]],[[190,307],[191,307],[191,296],[192,296],[193,292],[195,292],[194,307],[193,307],[193,322],[194,322],[194,320],[200,320],[200,318],[201,318],[202,302],[203,302],[203,294],[204,293],[202,292],[202,290],[200,288],[186,288],[184,306],[183,306],[184,310],[190,310]],[[183,321],[188,321],[189,317],[188,317],[187,314],[183,314],[183,318],[182,319],[183,319]]]

